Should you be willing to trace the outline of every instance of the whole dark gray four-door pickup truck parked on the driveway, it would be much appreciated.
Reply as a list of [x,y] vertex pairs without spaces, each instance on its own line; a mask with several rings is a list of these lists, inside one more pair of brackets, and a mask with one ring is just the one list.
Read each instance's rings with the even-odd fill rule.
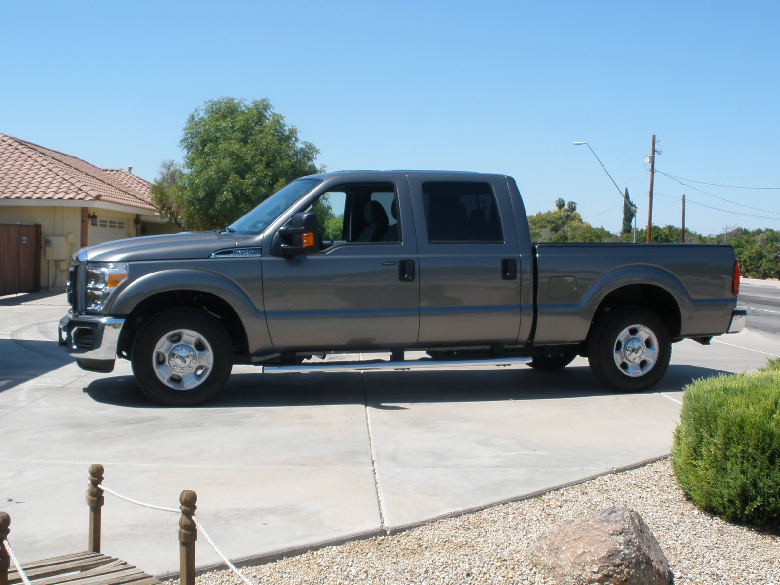
[[234,363],[555,371],[587,356],[633,392],[661,379],[673,342],[741,331],[738,290],[731,246],[531,243],[509,176],[329,172],[224,229],[77,251],[59,343],[89,371],[130,360],[172,406],[213,397]]

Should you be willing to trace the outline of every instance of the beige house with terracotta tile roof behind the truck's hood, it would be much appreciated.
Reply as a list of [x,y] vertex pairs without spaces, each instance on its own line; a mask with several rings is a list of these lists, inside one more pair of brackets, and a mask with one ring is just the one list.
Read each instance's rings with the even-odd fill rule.
[[38,246],[41,288],[64,286],[69,258],[83,246],[179,231],[160,218],[150,183],[131,170],[98,168],[0,133],[0,283],[6,283],[0,284],[0,295],[14,288],[6,272],[17,254],[35,255],[23,254],[24,249],[14,254],[14,234],[21,232],[12,226],[39,226],[40,242],[31,242],[33,232],[25,232],[16,246]]

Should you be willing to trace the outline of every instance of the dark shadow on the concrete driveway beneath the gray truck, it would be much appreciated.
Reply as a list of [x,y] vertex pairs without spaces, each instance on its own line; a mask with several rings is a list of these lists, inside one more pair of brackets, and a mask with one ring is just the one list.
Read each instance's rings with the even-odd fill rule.
[[[647,392],[681,392],[697,378],[730,374],[709,367],[672,365]],[[132,376],[108,376],[83,389],[95,402],[127,408],[158,406],[140,391]],[[555,373],[529,368],[505,371],[371,372],[367,374],[261,374],[235,372],[211,401],[189,408],[235,408],[365,404],[380,410],[406,410],[415,402],[488,402],[577,399],[613,395],[587,366]]]

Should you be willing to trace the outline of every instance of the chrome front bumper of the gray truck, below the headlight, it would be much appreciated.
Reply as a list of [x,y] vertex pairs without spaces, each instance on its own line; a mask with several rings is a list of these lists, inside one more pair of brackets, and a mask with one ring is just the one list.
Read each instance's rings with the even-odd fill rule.
[[80,360],[115,360],[124,319],[80,315],[69,311],[59,320],[57,339],[60,346]]

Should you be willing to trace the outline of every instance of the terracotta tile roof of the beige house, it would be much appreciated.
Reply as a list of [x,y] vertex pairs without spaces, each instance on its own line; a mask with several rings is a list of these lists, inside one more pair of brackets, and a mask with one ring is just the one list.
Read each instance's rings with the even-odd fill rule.
[[0,133],[0,199],[104,201],[156,211],[149,188],[123,169],[98,168]]

